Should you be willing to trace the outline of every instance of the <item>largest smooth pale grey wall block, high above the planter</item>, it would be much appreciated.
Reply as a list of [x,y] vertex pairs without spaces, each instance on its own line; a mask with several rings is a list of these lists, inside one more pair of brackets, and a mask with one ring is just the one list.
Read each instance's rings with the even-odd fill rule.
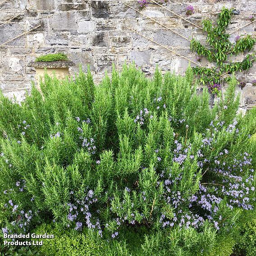
[[59,13],[49,18],[50,27],[53,30],[68,30],[75,32],[78,29],[76,17],[73,13]]

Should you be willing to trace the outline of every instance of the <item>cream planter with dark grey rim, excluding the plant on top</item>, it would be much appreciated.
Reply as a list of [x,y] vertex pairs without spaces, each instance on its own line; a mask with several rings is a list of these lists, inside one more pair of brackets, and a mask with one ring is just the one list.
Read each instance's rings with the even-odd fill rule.
[[52,61],[52,62],[30,62],[29,67],[36,69],[35,80],[37,81],[37,87],[40,87],[40,77],[44,81],[45,69],[46,73],[53,77],[53,71],[56,78],[64,79],[69,76],[69,67],[73,67],[75,64],[72,61]]

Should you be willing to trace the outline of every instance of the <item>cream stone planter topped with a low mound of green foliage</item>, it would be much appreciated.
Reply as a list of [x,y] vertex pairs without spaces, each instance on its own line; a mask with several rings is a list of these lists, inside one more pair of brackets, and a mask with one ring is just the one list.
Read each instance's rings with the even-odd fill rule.
[[39,87],[40,79],[44,80],[45,72],[50,76],[55,75],[59,79],[69,76],[69,67],[74,66],[72,61],[64,53],[47,54],[37,57],[35,62],[30,62],[29,67],[36,69],[35,79]]

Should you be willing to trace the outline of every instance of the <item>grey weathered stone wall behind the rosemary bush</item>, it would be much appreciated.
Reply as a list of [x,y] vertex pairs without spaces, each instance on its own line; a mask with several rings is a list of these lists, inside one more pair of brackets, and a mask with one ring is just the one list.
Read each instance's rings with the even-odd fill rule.
[[[82,64],[83,69],[89,64],[96,81],[100,81],[105,71],[111,71],[112,62],[121,69],[125,61],[134,60],[148,75],[154,71],[155,64],[159,64],[163,72],[175,70],[183,73],[187,69],[186,59],[138,36],[129,28],[140,31],[160,44],[169,46],[178,54],[196,61],[195,55],[189,50],[189,41],[128,8],[125,3],[139,9],[136,0],[6,1],[0,6],[1,24],[29,6],[35,6],[0,27],[0,44],[33,27],[41,27],[0,47],[0,89],[5,95],[15,95],[18,100],[22,99],[35,76],[34,69],[27,67],[27,64],[46,53],[66,52],[77,64],[71,73],[78,70],[78,64]],[[189,17],[185,14],[187,5],[195,8],[195,14]],[[256,0],[251,0],[250,4],[247,0],[168,0],[165,4],[168,9],[197,25],[201,25],[202,19],[206,17],[216,19],[223,5],[240,11],[240,15],[234,15],[231,20],[228,30],[231,32],[249,22],[249,15],[255,12]],[[201,29],[153,3],[142,12],[186,37],[194,36],[202,41],[206,39]],[[252,35],[255,26],[256,23],[252,23],[233,33],[231,40],[234,41],[237,35],[245,33]],[[202,63],[207,64],[204,59]],[[250,84],[256,78],[255,71],[256,64],[249,72],[238,74],[241,81],[249,82],[242,91],[237,89],[241,91],[241,107],[245,109],[256,105],[256,87]]]

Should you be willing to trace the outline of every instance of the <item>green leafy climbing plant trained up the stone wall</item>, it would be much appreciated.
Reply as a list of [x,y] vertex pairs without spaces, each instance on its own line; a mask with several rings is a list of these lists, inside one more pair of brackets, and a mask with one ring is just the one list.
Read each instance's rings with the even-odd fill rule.
[[206,59],[215,63],[211,68],[195,67],[194,73],[199,77],[199,81],[204,84],[221,84],[223,81],[229,81],[230,76],[225,77],[225,74],[241,72],[252,67],[256,60],[254,53],[248,53],[241,62],[229,62],[229,56],[243,54],[250,51],[256,39],[250,35],[243,37],[236,37],[236,42],[229,41],[229,34],[226,33],[226,28],[230,24],[232,18],[232,9],[223,7],[219,13],[216,25],[209,19],[202,22],[204,32],[207,33],[206,41],[209,47],[203,46],[199,40],[192,39],[190,49],[196,52],[200,57],[204,56]]

